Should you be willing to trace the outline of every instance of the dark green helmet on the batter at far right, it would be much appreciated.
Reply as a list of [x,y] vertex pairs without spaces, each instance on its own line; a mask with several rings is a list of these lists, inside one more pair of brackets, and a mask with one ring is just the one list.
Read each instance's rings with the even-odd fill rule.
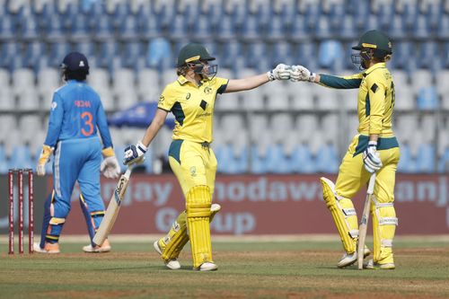
[[357,46],[352,48],[355,50],[373,48],[373,56],[376,58],[383,58],[392,54],[392,41],[390,41],[388,36],[381,31],[366,31],[360,40],[358,40]]

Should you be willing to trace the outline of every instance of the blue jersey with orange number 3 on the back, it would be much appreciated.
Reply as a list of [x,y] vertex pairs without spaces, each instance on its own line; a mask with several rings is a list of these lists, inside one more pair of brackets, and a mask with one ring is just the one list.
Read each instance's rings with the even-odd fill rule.
[[112,146],[100,96],[85,82],[69,80],[53,94],[45,145],[60,140],[92,138],[100,130],[103,148]]

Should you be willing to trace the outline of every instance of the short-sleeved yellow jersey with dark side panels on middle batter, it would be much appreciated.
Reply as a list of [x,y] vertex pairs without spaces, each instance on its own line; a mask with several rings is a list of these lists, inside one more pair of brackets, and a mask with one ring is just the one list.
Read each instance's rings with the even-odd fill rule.
[[227,79],[214,77],[197,85],[182,75],[167,84],[157,107],[172,111],[175,117],[172,138],[211,143],[216,94],[225,92],[227,84]]

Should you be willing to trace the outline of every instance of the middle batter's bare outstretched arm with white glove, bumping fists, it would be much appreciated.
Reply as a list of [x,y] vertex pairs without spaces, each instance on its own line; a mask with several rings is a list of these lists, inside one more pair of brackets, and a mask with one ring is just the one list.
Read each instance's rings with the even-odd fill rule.
[[269,83],[270,81],[289,80],[290,73],[291,66],[280,64],[266,74],[252,75],[242,79],[229,80],[225,92],[223,93],[249,91],[253,88],[259,87],[260,85]]

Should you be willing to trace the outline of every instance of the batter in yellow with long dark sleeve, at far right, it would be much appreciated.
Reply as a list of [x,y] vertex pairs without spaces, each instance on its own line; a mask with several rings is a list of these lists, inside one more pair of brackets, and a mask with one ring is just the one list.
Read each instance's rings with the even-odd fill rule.
[[[385,66],[392,56],[392,43],[381,31],[367,31],[357,46],[359,54],[351,58],[363,70],[360,74],[338,77],[318,75],[304,66],[292,66],[292,81],[309,81],[339,89],[358,88],[358,134],[354,136],[339,167],[334,183],[321,178],[323,198],[337,225],[345,254],[338,267],[357,261],[357,214],[351,198],[377,172],[374,200],[371,203],[374,232],[374,259],[365,268],[395,268],[392,241],[398,224],[393,207],[394,181],[400,150],[392,131],[394,84]],[[371,252],[365,248],[365,257]]]

